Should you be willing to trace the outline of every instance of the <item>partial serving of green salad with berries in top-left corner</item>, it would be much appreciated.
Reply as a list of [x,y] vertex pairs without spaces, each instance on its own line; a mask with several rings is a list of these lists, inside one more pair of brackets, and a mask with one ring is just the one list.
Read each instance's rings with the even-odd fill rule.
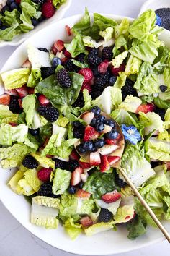
[[33,30],[49,19],[66,0],[0,0],[0,40]]

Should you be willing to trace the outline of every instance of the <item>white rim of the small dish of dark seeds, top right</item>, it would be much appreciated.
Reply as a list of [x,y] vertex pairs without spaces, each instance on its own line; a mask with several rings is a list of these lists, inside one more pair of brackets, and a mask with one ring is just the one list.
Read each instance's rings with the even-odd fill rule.
[[167,7],[170,8],[170,0],[148,0],[140,8],[139,15],[147,9],[153,9],[153,11],[156,11],[156,9]]

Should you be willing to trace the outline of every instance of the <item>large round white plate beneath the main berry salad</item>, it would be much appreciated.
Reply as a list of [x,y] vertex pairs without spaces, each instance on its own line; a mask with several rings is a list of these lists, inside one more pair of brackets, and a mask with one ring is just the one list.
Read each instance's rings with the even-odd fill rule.
[[[117,21],[122,20],[123,17],[118,17],[111,14],[104,14],[107,17],[113,18]],[[14,54],[10,56],[1,71],[14,69],[20,67],[22,62],[27,58],[27,43],[31,42],[34,46],[50,48],[56,39],[70,40],[66,36],[65,25],[71,27],[75,22],[80,20],[81,15],[68,17],[59,22],[45,27],[38,33],[33,35],[29,40],[22,43]],[[132,21],[133,19],[130,19]],[[166,32],[161,36],[162,40],[168,40],[170,33]],[[47,38],[47,39],[46,39]],[[170,42],[170,40],[169,40]],[[170,44],[169,44],[170,47]],[[2,93],[2,88],[1,92]],[[158,229],[148,228],[146,235],[141,236],[135,241],[130,241],[127,238],[128,232],[122,226],[119,226],[117,232],[107,231],[95,236],[87,237],[84,234],[78,237],[75,241],[71,241],[67,234],[65,234],[63,227],[59,226],[56,230],[46,230],[30,223],[30,204],[24,197],[14,194],[11,189],[6,185],[12,176],[12,171],[0,171],[0,199],[6,208],[28,229],[32,234],[39,237],[48,244],[56,248],[63,249],[67,252],[73,252],[80,255],[109,255],[119,252],[128,252],[133,249],[145,247],[146,245],[153,244],[164,240],[163,235]],[[170,231],[170,224],[166,222],[166,228]]]

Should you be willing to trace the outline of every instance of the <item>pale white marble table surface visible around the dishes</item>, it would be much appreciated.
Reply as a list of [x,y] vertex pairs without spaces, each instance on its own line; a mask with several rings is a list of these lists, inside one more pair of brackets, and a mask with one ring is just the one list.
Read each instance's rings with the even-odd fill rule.
[[[137,17],[141,5],[145,0],[73,0],[71,8],[65,17],[84,12],[103,12]],[[0,69],[4,62],[15,50],[15,47],[0,48]],[[22,213],[21,213],[22,214]],[[120,245],[121,246],[121,245]],[[71,256],[37,239],[9,213],[0,202],[0,256]],[[168,256],[168,242],[153,244],[137,251],[120,254],[120,256]]]

